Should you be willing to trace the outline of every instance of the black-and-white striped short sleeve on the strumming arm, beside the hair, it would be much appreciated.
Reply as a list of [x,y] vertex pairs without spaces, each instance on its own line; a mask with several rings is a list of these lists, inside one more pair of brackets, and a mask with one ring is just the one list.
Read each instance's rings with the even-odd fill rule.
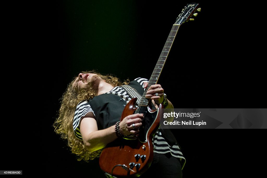
[[74,131],[74,135],[80,140],[83,140],[81,136],[81,132],[80,132],[80,121],[81,121],[81,118],[85,116],[88,112],[92,112],[95,115],[88,101],[81,101],[77,105],[75,113],[74,113],[73,131]]

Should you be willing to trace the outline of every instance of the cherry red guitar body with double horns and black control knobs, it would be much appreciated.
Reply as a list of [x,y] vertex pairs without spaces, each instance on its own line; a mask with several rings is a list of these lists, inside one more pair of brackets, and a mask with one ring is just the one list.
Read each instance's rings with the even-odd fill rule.
[[[133,98],[125,106],[121,120],[134,114],[137,98]],[[145,172],[153,160],[152,137],[159,127],[159,108],[151,110],[147,106],[140,106],[139,113],[144,114],[142,128],[136,140],[118,138],[108,144],[99,158],[100,168],[110,175],[137,177]]]

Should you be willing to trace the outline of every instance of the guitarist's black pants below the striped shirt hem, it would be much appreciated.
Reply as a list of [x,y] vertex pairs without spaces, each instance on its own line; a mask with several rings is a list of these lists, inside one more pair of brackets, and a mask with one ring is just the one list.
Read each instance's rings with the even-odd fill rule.
[[158,154],[153,153],[153,161],[148,170],[143,173],[140,178],[146,177],[167,177],[167,178],[182,178],[182,166],[180,159],[171,156],[170,153]]

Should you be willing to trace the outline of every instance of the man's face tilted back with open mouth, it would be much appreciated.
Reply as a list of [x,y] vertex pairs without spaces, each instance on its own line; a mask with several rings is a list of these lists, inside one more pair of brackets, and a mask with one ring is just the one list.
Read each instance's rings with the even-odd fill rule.
[[83,74],[80,73],[78,77],[73,82],[72,87],[76,90],[80,90],[82,88],[90,88],[94,87],[97,82],[99,82],[100,77],[97,74]]

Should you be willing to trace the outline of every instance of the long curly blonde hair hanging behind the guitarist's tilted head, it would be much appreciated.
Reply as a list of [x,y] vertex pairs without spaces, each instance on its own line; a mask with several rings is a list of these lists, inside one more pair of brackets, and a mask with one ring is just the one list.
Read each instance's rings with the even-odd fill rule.
[[[129,84],[129,80],[121,81],[112,75],[102,75],[95,71],[86,71],[81,73],[94,73],[105,80],[108,84],[112,86],[119,86],[123,84]],[[81,160],[93,160],[96,157],[100,156],[102,149],[89,152],[88,149],[85,147],[82,140],[78,139],[74,135],[73,131],[73,117],[74,112],[76,110],[76,106],[82,100],[89,100],[95,96],[97,96],[97,91],[93,88],[83,88],[81,90],[77,90],[73,88],[73,82],[77,77],[68,85],[65,93],[61,97],[61,106],[58,111],[58,117],[54,122],[53,126],[55,128],[55,132],[60,134],[62,139],[68,140],[68,146],[71,148],[72,153],[78,156],[78,161]]]

